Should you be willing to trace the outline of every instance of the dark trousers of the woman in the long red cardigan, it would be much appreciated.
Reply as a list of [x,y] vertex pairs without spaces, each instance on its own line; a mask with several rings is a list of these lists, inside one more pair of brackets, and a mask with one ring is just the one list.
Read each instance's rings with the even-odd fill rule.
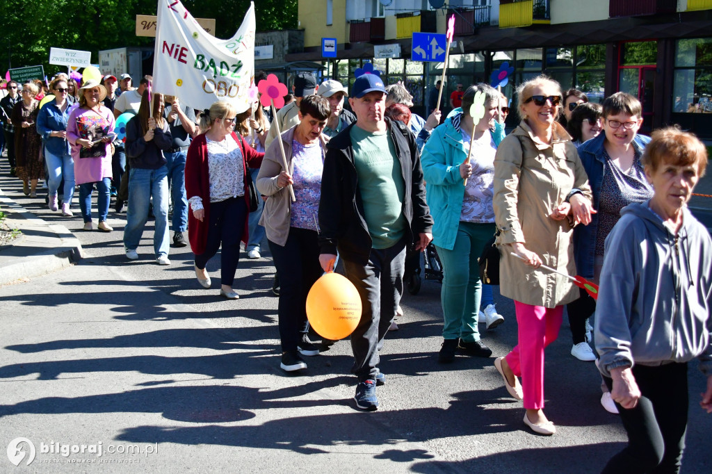
[[240,241],[247,222],[247,204],[244,196],[210,203],[210,221],[205,251],[195,256],[195,265],[203,269],[214,256],[220,244],[220,280],[232,286],[235,270],[240,261]]

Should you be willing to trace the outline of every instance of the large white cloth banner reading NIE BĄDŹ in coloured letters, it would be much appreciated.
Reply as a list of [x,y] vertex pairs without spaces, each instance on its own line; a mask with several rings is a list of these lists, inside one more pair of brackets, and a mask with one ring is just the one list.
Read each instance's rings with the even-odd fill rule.
[[211,36],[179,0],[159,0],[153,85],[197,110],[226,100],[244,112],[255,73],[255,5],[229,40]]

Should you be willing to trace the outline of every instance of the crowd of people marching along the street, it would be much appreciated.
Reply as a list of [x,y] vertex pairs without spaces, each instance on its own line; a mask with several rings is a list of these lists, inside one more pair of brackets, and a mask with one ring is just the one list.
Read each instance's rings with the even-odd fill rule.
[[[696,137],[674,127],[639,135],[636,98],[615,93],[594,104],[545,76],[518,86],[521,120],[509,133],[509,102],[486,84],[458,85],[446,118],[434,89],[424,119],[412,112],[407,88],[375,74],[347,90],[299,73],[294,100],[275,117],[258,102],[246,111],[215,102],[196,114],[179,98],[150,98],[151,80],[134,89],[129,75],[82,84],[58,75],[43,107],[38,85],[10,81],[0,105],[11,173],[24,193],[35,197],[46,179],[49,209],[72,216],[79,186],[86,231],[94,229],[94,189],[100,231],[113,231],[112,194],[117,211],[127,201],[130,260],[139,258],[152,211],[157,263],[170,264],[169,225],[174,246],[187,245],[187,231],[203,288],[211,288],[206,265],[221,249],[219,295],[229,300],[239,297],[240,243],[248,258],[261,258],[266,235],[287,372],[307,369],[303,356],[335,342],[310,340],[305,300],[338,262],[362,300],[350,343],[355,404],[366,411],[379,406],[379,351],[402,315],[406,267],[419,265],[429,246],[444,270],[439,362],[492,356],[478,323],[493,330],[504,317],[478,258],[493,241],[500,293],[514,301],[518,331],[518,344],[493,369],[523,402],[523,423],[556,432],[543,411],[545,348],[566,307],[571,354],[595,362],[601,403],[629,435],[604,472],[679,470],[687,363],[696,357],[707,377],[700,404],[712,412],[712,241],[686,209],[707,164]],[[126,113],[124,143],[112,130]],[[597,299],[566,275],[600,285]]]

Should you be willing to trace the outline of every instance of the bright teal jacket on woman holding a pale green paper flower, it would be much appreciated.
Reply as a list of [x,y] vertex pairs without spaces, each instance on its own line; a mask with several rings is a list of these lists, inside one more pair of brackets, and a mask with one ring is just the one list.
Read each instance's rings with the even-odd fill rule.
[[[433,216],[433,243],[452,250],[460,225],[465,184],[460,164],[467,159],[460,133],[462,115],[454,115],[433,130],[420,158],[425,179],[425,199]],[[492,137],[496,146],[504,138],[504,126],[496,123]]]

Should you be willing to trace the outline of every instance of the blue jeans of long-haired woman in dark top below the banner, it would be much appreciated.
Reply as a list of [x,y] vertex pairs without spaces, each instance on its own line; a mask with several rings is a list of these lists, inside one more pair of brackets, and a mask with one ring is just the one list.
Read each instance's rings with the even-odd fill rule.
[[155,231],[153,249],[156,257],[168,255],[168,169],[131,168],[129,171],[129,209],[126,211],[124,247],[136,250],[148,219],[153,197]]

